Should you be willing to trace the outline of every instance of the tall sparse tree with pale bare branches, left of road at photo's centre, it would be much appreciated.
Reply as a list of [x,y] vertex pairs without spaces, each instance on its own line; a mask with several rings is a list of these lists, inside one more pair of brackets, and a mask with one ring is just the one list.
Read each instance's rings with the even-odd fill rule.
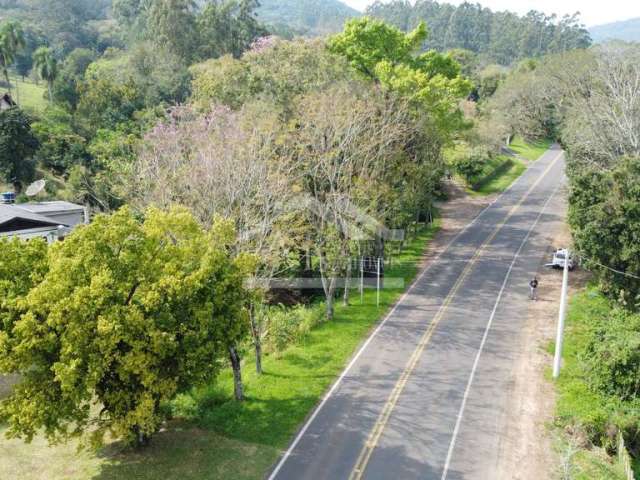
[[[383,241],[379,222],[393,188],[387,182],[397,181],[389,173],[404,160],[415,124],[406,103],[356,82],[301,96],[292,123],[283,156],[299,179],[296,204],[309,227],[331,320],[337,279],[348,271],[358,230],[373,227],[367,234]],[[381,249],[377,253],[383,255]]]

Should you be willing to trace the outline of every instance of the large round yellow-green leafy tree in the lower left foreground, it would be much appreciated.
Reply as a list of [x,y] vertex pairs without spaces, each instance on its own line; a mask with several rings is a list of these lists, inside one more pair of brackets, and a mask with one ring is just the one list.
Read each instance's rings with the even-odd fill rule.
[[0,304],[0,371],[21,373],[0,403],[8,435],[146,443],[161,405],[213,380],[247,333],[233,237],[228,222],[204,231],[184,209],[149,210],[143,222],[122,209],[50,247],[32,286],[12,286],[22,250],[3,255],[0,288],[20,297]]

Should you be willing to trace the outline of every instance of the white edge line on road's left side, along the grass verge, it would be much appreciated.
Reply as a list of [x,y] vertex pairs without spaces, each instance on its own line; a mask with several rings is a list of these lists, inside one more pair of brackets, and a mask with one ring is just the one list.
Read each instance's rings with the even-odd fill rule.
[[[547,152],[545,152],[545,154],[541,155],[540,158],[538,158],[535,162],[533,162],[528,170],[530,170],[533,166],[535,166],[536,164],[538,164],[543,158],[546,157],[547,153],[551,153],[554,152],[554,150],[549,149],[547,150]],[[561,154],[563,152],[561,151]],[[555,157],[553,159],[553,161],[555,162],[555,160],[557,159],[557,157]],[[287,451],[284,453],[284,455],[282,456],[282,458],[280,459],[280,461],[278,462],[278,464],[276,465],[276,467],[273,469],[273,471],[271,472],[271,475],[269,475],[268,480],[275,480],[276,476],[278,475],[278,473],[280,472],[280,470],[282,469],[282,467],[284,466],[284,464],[286,463],[287,459],[291,456],[291,454],[293,453],[293,450],[295,450],[295,448],[298,446],[298,443],[300,443],[300,440],[302,439],[302,437],[304,436],[304,434],[307,432],[307,430],[309,429],[309,426],[313,423],[313,421],[315,420],[315,418],[318,416],[318,414],[320,413],[320,411],[322,410],[322,408],[325,406],[325,404],[327,403],[327,401],[329,401],[329,399],[331,398],[331,396],[334,394],[334,392],[338,389],[338,387],[340,386],[340,384],[342,383],[342,381],[344,380],[344,378],[347,376],[347,374],[349,373],[349,370],[351,370],[351,368],[353,367],[353,365],[358,361],[358,359],[360,358],[360,356],[364,353],[364,351],[366,350],[366,348],[369,346],[369,344],[373,341],[373,339],[376,337],[376,335],[380,332],[380,330],[382,329],[382,327],[384,327],[384,325],[387,323],[387,321],[389,320],[389,318],[391,318],[391,316],[395,313],[396,309],[398,308],[398,305],[400,305],[406,298],[407,296],[411,293],[411,291],[414,289],[414,287],[418,284],[418,282],[420,280],[422,280],[422,278],[426,275],[426,273],[431,269],[431,267],[433,265],[435,265],[438,260],[440,259],[440,257],[442,255],[444,255],[449,248],[467,231],[469,230],[469,228],[471,228],[473,225],[475,225],[475,223],[480,219],[480,217],[482,217],[482,215],[484,215],[485,212],[487,212],[499,199],[501,199],[503,196],[505,196],[507,193],[509,193],[511,191],[511,189],[513,187],[515,187],[516,184],[518,184],[520,182],[520,180],[523,178],[523,175],[520,175],[520,177],[518,177],[518,179],[516,181],[514,181],[511,185],[509,185],[509,187],[502,192],[500,195],[498,195],[498,197],[495,198],[495,200],[493,202],[491,202],[489,205],[487,205],[484,209],[482,209],[482,211],[480,213],[478,213],[478,215],[476,215],[476,217],[469,222],[462,230],[460,230],[460,232],[458,232],[456,234],[455,237],[453,237],[453,239],[451,239],[451,241],[446,245],[446,247],[438,254],[436,255],[436,257],[431,260],[431,262],[429,263],[429,265],[420,273],[420,275],[418,275],[418,277],[415,278],[415,280],[411,283],[411,285],[409,286],[409,288],[407,289],[406,292],[404,292],[404,294],[402,294],[402,296],[400,297],[400,299],[395,303],[395,305],[393,306],[393,308],[389,311],[389,313],[384,317],[384,319],[382,320],[382,322],[380,322],[380,324],[376,327],[376,329],[373,331],[373,333],[369,336],[369,338],[367,338],[367,340],[362,344],[362,346],[360,347],[360,349],[358,350],[358,352],[354,355],[354,357],[351,359],[351,361],[349,362],[349,364],[346,366],[346,368],[342,371],[342,374],[338,377],[338,379],[334,382],[333,386],[331,387],[331,389],[327,392],[327,394],[324,396],[324,398],[322,399],[322,401],[320,402],[320,404],[316,407],[316,409],[314,410],[314,412],[311,414],[311,416],[309,417],[309,419],[305,422],[304,426],[300,429],[300,431],[298,432],[298,435],[296,435],[296,438],[293,440],[293,442],[291,443],[291,445],[289,446],[289,448],[287,449]]]

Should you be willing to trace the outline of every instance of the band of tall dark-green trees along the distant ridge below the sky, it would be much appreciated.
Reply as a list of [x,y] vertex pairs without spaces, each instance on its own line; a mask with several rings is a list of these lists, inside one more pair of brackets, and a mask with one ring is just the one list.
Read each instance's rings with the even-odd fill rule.
[[459,6],[433,0],[377,1],[367,15],[408,31],[419,22],[429,26],[427,49],[470,50],[486,57],[486,63],[510,65],[527,57],[539,57],[591,43],[579,17],[557,18],[531,11],[521,17],[511,12],[493,12],[478,3]]

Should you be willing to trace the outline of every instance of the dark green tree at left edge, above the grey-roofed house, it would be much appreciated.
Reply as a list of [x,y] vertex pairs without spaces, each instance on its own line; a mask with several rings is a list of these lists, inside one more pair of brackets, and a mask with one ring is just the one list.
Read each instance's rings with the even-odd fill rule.
[[33,155],[38,140],[31,130],[31,119],[18,107],[0,111],[0,175],[20,192],[33,180]]

